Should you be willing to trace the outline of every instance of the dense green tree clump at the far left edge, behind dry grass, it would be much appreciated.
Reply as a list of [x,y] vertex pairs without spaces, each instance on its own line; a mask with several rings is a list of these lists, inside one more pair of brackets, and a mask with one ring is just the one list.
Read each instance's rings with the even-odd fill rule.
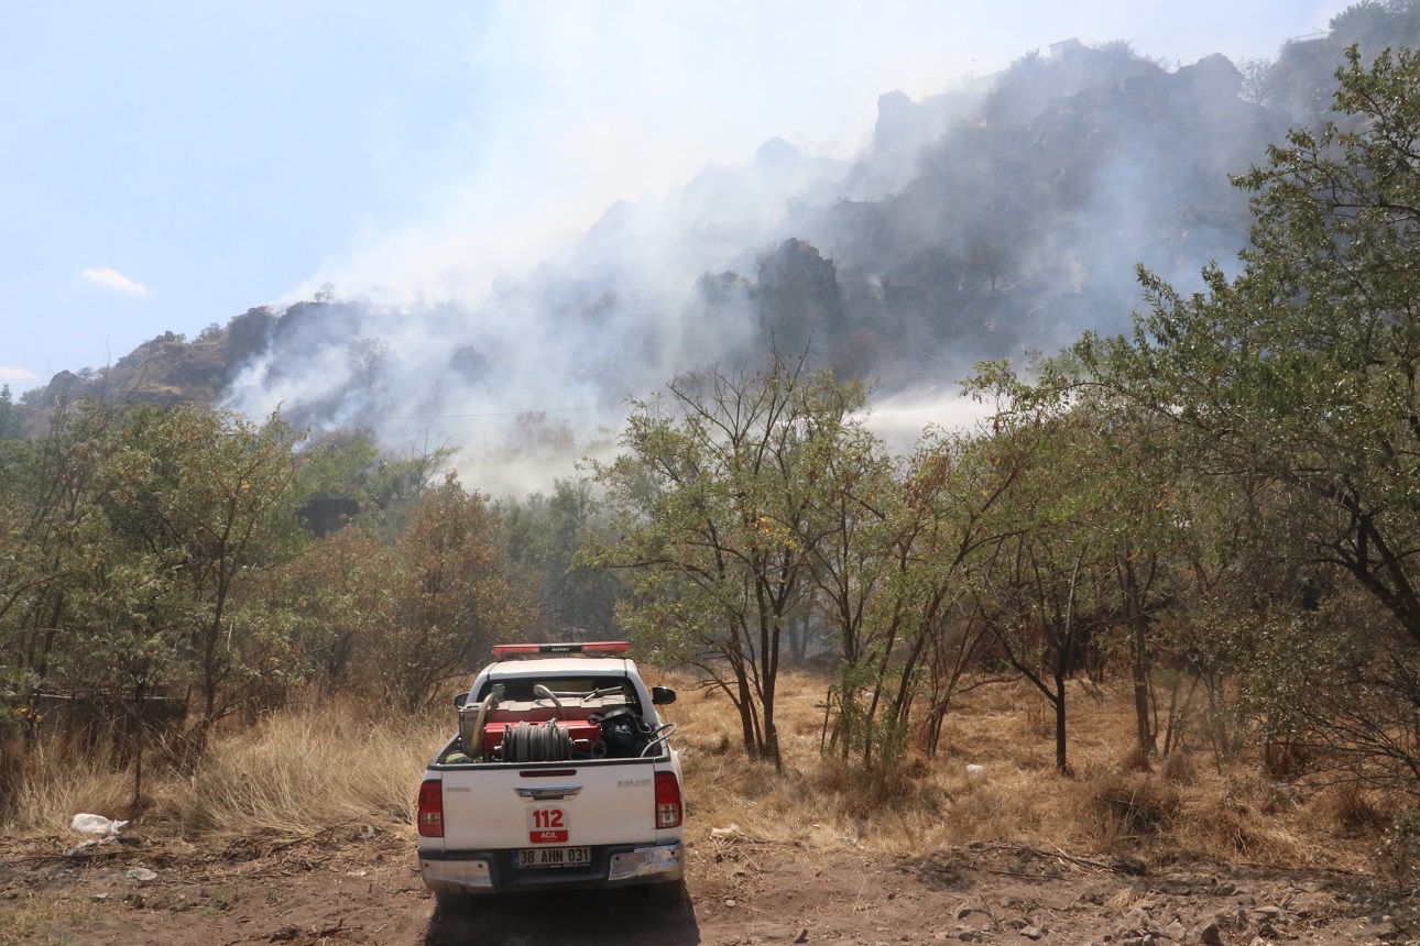
[[274,418],[81,399],[27,447],[0,489],[0,634],[18,665],[3,675],[108,722],[138,804],[158,728],[190,706],[192,739],[173,745],[200,752],[283,669],[251,591],[295,538],[293,441]]

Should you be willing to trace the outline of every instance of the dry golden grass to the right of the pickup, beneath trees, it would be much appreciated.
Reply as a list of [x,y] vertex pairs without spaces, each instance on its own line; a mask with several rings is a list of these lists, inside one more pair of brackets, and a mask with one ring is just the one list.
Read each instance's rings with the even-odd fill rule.
[[[765,841],[895,855],[1005,841],[1100,857],[1367,869],[1373,844],[1359,842],[1358,806],[1325,796],[1306,803],[1268,781],[1260,759],[1228,760],[1227,774],[1211,755],[1142,764],[1125,689],[1072,685],[1069,776],[1055,770],[1045,701],[1003,685],[958,699],[936,759],[872,777],[821,757],[816,705],[826,684],[818,677],[781,679],[782,772],[746,760],[738,719],[719,694],[667,682],[684,694],[670,711],[682,723],[693,833],[737,824]],[[983,766],[985,779],[968,779],[968,764]]]

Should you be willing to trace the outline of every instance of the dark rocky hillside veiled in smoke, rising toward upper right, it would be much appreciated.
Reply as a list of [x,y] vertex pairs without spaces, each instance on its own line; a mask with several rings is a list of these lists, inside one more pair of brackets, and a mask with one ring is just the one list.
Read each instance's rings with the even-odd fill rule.
[[882,95],[853,160],[775,139],[744,167],[618,203],[574,248],[481,299],[390,311],[332,288],[61,372],[21,401],[280,404],[338,427],[507,408],[510,393],[619,403],[768,345],[886,390],[947,384],[980,359],[1127,328],[1137,265],[1181,288],[1208,261],[1230,265],[1250,216],[1228,176],[1319,121],[1348,44],[1413,43],[1420,13],[1367,1],[1332,27],[1242,68],[1059,43],[920,102]]

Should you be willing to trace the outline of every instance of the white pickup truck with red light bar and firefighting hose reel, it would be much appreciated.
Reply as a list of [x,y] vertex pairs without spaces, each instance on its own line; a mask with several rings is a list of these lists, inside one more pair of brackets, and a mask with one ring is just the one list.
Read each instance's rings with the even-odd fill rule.
[[[621,641],[504,644],[419,787],[419,872],[464,894],[674,884],[684,872],[674,723]],[[575,655],[574,655],[575,654]],[[521,660],[520,660],[521,658]],[[672,888],[662,888],[672,889]]]

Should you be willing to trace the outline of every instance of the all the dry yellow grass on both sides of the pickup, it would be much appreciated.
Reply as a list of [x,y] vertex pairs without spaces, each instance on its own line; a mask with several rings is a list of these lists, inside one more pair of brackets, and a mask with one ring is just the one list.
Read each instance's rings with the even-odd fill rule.
[[[798,842],[809,852],[859,848],[926,854],[973,841],[1005,841],[1081,855],[1156,861],[1196,857],[1277,867],[1367,869],[1386,824],[1383,800],[1339,791],[1304,798],[1262,776],[1260,759],[1211,755],[1140,764],[1132,752],[1129,694],[1071,691],[1071,769],[1055,770],[1052,718],[1024,686],[964,694],[947,718],[936,759],[909,757],[889,774],[824,759],[826,684],[781,679],[784,769],[748,762],[738,716],[716,691],[650,674],[676,686],[665,715],[680,723],[689,830],[738,825],[744,837]],[[413,800],[425,763],[454,716],[440,701],[419,716],[381,715],[355,703],[273,716],[219,738],[195,776],[149,777],[148,834],[186,840],[301,838],[365,824],[413,838]],[[967,766],[984,767],[984,779]],[[128,774],[102,759],[33,756],[24,787],[0,828],[64,835],[77,811],[122,814]]]

